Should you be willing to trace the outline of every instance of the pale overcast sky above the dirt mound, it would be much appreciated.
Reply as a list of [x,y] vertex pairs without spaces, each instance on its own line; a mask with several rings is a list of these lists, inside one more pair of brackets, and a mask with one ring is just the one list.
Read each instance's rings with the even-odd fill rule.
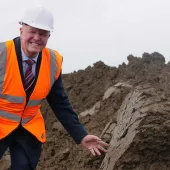
[[155,51],[170,60],[170,0],[0,0],[0,41],[19,35],[24,11],[48,7],[55,31],[48,47],[64,57],[63,72],[101,60],[110,66]]

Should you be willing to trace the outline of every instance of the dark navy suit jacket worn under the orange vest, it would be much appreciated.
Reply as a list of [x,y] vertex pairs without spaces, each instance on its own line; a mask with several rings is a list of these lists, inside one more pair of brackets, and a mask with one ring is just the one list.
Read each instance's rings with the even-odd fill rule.
[[[21,78],[22,78],[22,82],[24,83],[20,37],[15,38],[14,43],[15,43],[15,49],[18,57],[18,64],[21,73]],[[35,83],[37,81],[37,77],[40,69],[41,57],[42,57],[42,53],[39,54],[37,64],[36,64]],[[77,144],[79,144],[81,142],[81,139],[87,135],[87,132],[83,127],[83,125],[79,122],[77,114],[72,109],[72,106],[68,100],[68,96],[66,95],[64,90],[61,74],[59,78],[55,81],[46,99],[50,107],[52,108],[53,112],[55,113],[56,117],[58,118],[58,120],[68,131],[68,133],[72,136],[74,141]],[[27,100],[29,100],[28,95],[27,95]]]

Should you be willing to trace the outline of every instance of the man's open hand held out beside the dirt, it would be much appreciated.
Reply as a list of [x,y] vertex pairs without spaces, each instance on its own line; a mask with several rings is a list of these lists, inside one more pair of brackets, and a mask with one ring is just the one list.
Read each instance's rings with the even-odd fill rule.
[[88,149],[93,156],[101,155],[102,152],[107,152],[104,147],[108,147],[109,144],[103,142],[99,137],[94,135],[87,135],[85,136],[81,144],[84,148]]

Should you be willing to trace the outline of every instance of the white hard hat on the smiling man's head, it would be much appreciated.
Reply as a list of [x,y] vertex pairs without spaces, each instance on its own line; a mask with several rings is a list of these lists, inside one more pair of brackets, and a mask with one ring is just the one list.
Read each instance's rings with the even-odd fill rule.
[[44,7],[30,8],[19,21],[21,25],[27,24],[35,28],[53,31],[54,19],[52,13]]

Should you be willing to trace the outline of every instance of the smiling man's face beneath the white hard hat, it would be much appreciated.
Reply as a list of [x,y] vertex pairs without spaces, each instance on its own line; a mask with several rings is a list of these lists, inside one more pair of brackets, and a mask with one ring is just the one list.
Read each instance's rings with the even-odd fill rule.
[[50,32],[24,25],[20,28],[21,47],[28,57],[35,57],[46,46]]

